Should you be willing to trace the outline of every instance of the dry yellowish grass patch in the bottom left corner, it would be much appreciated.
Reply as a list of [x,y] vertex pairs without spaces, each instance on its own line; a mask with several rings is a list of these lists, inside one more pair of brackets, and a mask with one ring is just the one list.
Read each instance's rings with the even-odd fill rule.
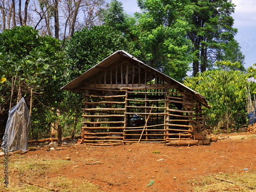
[[[47,187],[56,189],[59,192],[100,192],[98,186],[82,179],[69,179],[64,177],[50,178],[48,175],[56,173],[65,165],[72,162],[67,160],[48,160],[40,157],[28,159],[23,155],[13,155],[9,158],[9,184],[4,187],[4,178],[0,178],[0,191],[12,192],[45,192],[51,191]],[[0,168],[4,167],[4,160],[0,160]],[[28,184],[25,180],[39,184],[44,187]]]

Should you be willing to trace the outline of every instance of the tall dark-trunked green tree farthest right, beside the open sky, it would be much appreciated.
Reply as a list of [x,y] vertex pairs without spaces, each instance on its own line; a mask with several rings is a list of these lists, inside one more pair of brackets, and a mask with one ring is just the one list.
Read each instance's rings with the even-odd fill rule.
[[[210,69],[217,60],[244,62],[234,35],[230,0],[192,0],[194,13],[187,37],[193,43],[193,75]],[[236,55],[235,57],[233,55]]]

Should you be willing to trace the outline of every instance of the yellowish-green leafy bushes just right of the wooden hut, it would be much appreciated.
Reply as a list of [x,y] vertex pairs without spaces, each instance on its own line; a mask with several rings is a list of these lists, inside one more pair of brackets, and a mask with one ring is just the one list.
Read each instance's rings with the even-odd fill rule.
[[248,75],[239,70],[230,70],[240,68],[241,63],[220,61],[217,65],[222,69],[187,77],[184,84],[204,95],[211,105],[211,109],[204,112],[208,128],[215,132],[220,129],[229,132],[246,124]]

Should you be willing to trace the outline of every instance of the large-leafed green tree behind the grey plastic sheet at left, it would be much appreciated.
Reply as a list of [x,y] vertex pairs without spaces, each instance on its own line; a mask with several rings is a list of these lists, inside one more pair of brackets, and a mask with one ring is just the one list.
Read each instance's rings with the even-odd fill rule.
[[50,122],[38,122],[61,100],[63,58],[60,42],[51,36],[40,36],[32,27],[14,27],[0,33],[0,71],[7,79],[1,87],[4,105],[0,113],[7,114],[9,107],[23,96],[33,106],[32,130],[47,130]]

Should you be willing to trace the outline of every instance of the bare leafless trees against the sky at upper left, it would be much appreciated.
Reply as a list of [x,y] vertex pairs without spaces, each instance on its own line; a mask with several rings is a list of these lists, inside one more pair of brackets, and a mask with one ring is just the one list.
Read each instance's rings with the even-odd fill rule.
[[104,0],[0,0],[0,31],[28,25],[65,41],[78,29],[101,24],[104,6]]

